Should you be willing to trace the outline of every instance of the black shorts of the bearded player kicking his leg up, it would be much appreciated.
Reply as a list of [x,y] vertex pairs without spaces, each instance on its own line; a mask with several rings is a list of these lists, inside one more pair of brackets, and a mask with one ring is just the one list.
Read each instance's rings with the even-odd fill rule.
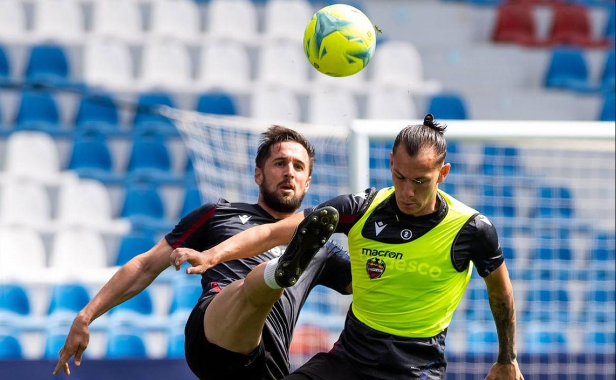
[[[201,300],[186,322],[184,352],[188,367],[201,380],[279,380],[289,373],[288,361],[280,359],[270,330],[263,329],[259,346],[248,355],[208,342],[203,329],[205,310],[214,296]],[[284,363],[282,363],[284,362]]]

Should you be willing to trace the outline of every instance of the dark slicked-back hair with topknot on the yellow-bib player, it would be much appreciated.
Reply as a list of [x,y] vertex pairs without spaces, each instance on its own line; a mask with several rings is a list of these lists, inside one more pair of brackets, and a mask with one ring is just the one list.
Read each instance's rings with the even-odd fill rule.
[[415,156],[421,148],[434,148],[437,155],[437,162],[445,161],[447,155],[447,141],[445,141],[445,129],[447,125],[439,124],[434,121],[434,116],[428,113],[424,118],[423,124],[407,126],[395,137],[394,148],[403,144],[407,148],[409,156]]

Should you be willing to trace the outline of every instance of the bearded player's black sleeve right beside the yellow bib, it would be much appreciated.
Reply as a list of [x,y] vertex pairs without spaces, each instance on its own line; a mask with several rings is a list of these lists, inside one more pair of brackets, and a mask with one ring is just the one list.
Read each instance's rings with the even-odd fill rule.
[[333,240],[325,243],[327,261],[320,275],[318,285],[327,286],[341,294],[350,294],[351,260],[349,253]]

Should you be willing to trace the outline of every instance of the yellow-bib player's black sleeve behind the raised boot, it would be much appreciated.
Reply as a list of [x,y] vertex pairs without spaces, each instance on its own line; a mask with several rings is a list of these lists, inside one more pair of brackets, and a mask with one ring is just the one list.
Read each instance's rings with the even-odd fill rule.
[[338,233],[348,234],[351,227],[359,220],[363,213],[368,209],[371,201],[376,195],[376,188],[367,188],[365,191],[357,194],[339,195],[336,198],[331,198],[318,206],[313,208],[307,208],[304,210],[304,216],[310,214],[315,209],[325,206],[332,206],[340,214],[338,221],[338,227],[336,231]]

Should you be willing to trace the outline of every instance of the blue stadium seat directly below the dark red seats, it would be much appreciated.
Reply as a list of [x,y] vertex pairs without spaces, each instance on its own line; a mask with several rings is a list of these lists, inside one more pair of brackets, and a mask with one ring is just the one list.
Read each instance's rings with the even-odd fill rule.
[[589,83],[588,67],[582,51],[561,48],[552,53],[545,77],[548,88],[569,89],[577,92],[596,92],[598,86]]

